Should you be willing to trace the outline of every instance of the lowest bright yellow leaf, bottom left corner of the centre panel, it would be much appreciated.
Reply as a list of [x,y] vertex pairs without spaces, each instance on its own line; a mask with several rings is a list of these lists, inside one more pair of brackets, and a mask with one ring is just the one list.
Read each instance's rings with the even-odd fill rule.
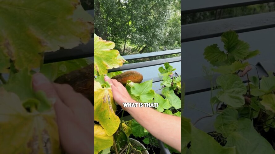
[[100,125],[94,125],[94,153],[113,145],[113,136],[108,136]]

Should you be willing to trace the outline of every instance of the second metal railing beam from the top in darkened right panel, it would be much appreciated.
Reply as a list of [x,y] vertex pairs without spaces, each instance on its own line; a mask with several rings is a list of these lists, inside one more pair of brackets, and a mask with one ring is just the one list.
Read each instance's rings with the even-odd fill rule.
[[219,37],[228,30],[243,33],[273,27],[275,12],[200,22],[181,26],[181,42]]

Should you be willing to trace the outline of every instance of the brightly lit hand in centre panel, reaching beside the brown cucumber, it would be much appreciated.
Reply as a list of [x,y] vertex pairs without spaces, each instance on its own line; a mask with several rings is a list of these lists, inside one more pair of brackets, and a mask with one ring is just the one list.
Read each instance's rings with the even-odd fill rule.
[[122,103],[135,103],[136,101],[131,98],[126,88],[119,83],[116,79],[110,79],[108,76],[104,77],[106,82],[111,84],[113,98],[124,110],[127,111],[127,107],[123,107]]

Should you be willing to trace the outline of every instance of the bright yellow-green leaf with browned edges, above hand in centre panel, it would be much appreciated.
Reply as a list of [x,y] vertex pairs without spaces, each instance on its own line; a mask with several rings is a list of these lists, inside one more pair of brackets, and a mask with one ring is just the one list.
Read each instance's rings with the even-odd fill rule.
[[94,62],[95,70],[99,75],[107,74],[107,70],[122,66],[126,62],[118,50],[114,49],[115,44],[111,41],[102,40],[96,34],[94,36]]

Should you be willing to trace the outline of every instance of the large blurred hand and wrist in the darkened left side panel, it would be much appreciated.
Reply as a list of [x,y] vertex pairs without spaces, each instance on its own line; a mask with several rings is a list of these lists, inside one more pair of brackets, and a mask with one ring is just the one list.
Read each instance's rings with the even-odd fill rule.
[[50,83],[37,73],[32,78],[34,91],[44,91],[51,100],[56,100],[59,138],[67,154],[93,153],[93,106],[83,95],[76,93],[67,84]]

